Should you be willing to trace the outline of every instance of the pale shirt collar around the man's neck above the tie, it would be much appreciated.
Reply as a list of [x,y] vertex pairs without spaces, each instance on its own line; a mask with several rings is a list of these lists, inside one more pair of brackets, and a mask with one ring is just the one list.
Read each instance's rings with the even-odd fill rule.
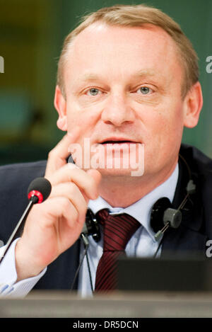
[[97,200],[90,200],[88,202],[88,207],[90,210],[96,214],[98,211],[102,209],[109,209],[110,212],[114,212],[116,214],[119,213],[127,213],[130,214],[131,217],[137,219],[143,227],[146,228],[148,234],[154,239],[155,232],[151,228],[150,219],[151,219],[151,210],[153,205],[159,198],[166,197],[172,202],[175,189],[177,186],[177,178],[179,175],[179,166],[178,163],[175,167],[175,171],[172,172],[171,176],[167,178],[167,180],[159,185],[157,188],[148,193],[146,196],[141,198],[129,207],[112,207],[108,202],[106,202],[100,196]]

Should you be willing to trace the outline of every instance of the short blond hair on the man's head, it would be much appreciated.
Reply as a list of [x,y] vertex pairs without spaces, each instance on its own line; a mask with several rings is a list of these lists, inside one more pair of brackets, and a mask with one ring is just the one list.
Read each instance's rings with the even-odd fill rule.
[[76,38],[81,31],[98,21],[106,23],[107,25],[125,27],[139,27],[145,24],[153,24],[163,28],[163,30],[171,36],[172,40],[174,40],[182,59],[182,66],[184,68],[182,98],[186,96],[192,85],[199,80],[198,57],[194,51],[192,42],[190,42],[186,35],[184,35],[179,24],[173,21],[170,16],[167,16],[167,14],[163,13],[163,11],[160,11],[158,8],[146,6],[144,4],[105,7],[94,13],[83,16],[81,21],[81,24],[71,31],[69,35],[67,35],[59,57],[57,85],[61,89],[64,97],[64,65],[71,42],[73,42],[73,39]]

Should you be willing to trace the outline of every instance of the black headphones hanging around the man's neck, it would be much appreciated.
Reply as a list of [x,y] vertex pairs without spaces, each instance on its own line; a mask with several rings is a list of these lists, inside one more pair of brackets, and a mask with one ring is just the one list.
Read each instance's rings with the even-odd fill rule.
[[[196,184],[192,180],[192,171],[187,164],[187,161],[179,154],[179,157],[184,162],[187,167],[187,171],[189,174],[189,181],[186,187],[186,195],[179,207],[175,209],[172,206],[170,200],[166,197],[160,198],[155,202],[151,210],[151,227],[153,231],[155,231],[155,240],[159,241],[163,235],[163,233],[169,227],[177,229],[182,222],[182,212],[184,212],[184,206],[187,204],[188,200],[192,202],[192,195],[196,193]],[[192,202],[193,205],[193,202]],[[186,212],[188,210],[185,210]],[[83,227],[82,234],[89,236],[92,235],[93,239],[98,242],[100,241],[100,226],[98,224],[98,220],[95,217],[95,214],[88,209],[86,213],[86,222]]]

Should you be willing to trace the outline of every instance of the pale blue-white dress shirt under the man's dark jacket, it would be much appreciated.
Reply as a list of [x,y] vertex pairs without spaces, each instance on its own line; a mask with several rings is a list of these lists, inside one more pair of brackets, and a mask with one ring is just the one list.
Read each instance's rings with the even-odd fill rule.
[[[89,201],[88,207],[90,207],[94,214],[102,209],[107,208],[110,210],[110,212],[115,212],[116,214],[130,214],[141,223],[141,227],[137,229],[136,233],[131,237],[128,244],[126,245],[126,256],[153,257],[155,255],[155,252],[158,249],[158,241],[155,241],[155,233],[153,229],[151,229],[150,225],[151,209],[159,198],[167,197],[169,198],[170,202],[172,202],[175,195],[178,173],[179,167],[177,164],[175,171],[173,171],[170,178],[152,190],[151,193],[148,193],[148,195],[141,198],[141,200],[126,208],[111,207],[101,197],[99,197],[97,200]],[[97,270],[98,262],[102,256],[102,236],[98,243],[93,240],[92,236],[88,236],[88,239],[88,261],[90,264],[90,272],[94,287],[95,273]],[[30,277],[28,279],[16,282],[17,273],[15,264],[15,247],[17,241],[18,239],[13,242],[11,248],[9,248],[4,260],[0,265],[1,297],[25,297],[25,295],[33,289],[37,281],[40,280],[42,275],[44,275],[47,270],[47,268],[45,268],[39,275],[35,277]],[[3,251],[4,247],[0,248],[0,257]],[[81,244],[81,255],[82,253],[83,244]],[[157,256],[160,256],[160,250],[158,251]],[[83,297],[92,295],[86,259],[83,260],[83,264],[79,273],[78,292]]]

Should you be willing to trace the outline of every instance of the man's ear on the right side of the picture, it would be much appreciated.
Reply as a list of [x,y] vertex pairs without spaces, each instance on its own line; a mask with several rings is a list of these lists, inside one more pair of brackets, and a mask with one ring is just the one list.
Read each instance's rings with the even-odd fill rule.
[[199,115],[203,105],[201,84],[196,82],[190,88],[187,96],[184,98],[184,126],[193,128],[199,121]]

